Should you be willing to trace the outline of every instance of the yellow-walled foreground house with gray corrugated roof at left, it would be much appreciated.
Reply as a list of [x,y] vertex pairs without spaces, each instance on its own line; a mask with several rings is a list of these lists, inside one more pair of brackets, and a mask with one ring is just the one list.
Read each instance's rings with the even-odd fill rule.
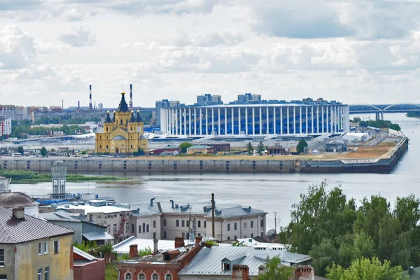
[[73,230],[0,208],[0,279],[72,280]]

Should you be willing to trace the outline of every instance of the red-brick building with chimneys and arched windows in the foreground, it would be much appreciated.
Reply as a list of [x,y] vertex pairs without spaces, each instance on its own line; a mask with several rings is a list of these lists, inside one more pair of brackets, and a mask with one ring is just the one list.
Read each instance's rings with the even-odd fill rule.
[[202,237],[195,238],[195,244],[185,246],[182,237],[176,237],[175,249],[160,253],[158,251],[158,240],[155,240],[152,255],[138,258],[137,245],[130,246],[130,260],[119,262],[118,280],[178,280],[178,272],[193,260],[195,255],[208,246],[201,242]]

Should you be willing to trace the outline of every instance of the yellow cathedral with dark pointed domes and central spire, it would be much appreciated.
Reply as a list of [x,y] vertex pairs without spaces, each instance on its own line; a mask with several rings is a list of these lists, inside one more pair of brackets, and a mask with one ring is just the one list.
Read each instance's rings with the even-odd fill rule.
[[113,111],[113,119],[106,113],[104,131],[97,132],[95,150],[97,153],[132,154],[139,148],[148,151],[148,142],[143,134],[143,123],[140,112],[137,116],[128,109],[125,92],[121,92],[121,102],[117,111]]

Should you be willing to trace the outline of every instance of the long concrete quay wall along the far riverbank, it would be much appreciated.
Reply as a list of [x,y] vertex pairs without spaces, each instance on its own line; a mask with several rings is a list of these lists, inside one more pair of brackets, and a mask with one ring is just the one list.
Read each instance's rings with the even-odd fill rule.
[[[392,153],[380,158],[349,158],[312,160],[299,157],[276,160],[271,158],[223,159],[202,158],[0,158],[1,169],[50,172],[55,160],[63,160],[69,172],[390,172],[408,149],[402,139]],[[233,158],[233,159],[232,159]]]

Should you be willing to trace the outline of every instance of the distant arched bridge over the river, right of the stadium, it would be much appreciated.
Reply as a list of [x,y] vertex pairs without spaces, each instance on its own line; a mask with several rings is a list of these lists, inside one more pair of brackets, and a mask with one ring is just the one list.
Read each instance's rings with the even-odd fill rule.
[[350,114],[375,113],[377,120],[384,120],[384,113],[409,113],[419,112],[420,104],[398,103],[398,104],[351,104]]

